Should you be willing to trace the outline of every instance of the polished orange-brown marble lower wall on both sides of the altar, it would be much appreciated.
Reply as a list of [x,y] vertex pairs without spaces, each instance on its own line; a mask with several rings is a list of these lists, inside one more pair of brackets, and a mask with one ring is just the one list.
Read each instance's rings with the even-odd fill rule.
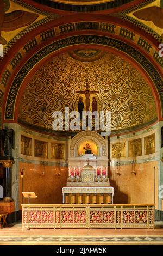
[[[62,187],[66,186],[68,178],[67,167],[40,166],[24,163],[23,191],[34,191],[37,198],[31,203],[60,204],[62,203]],[[154,175],[155,166],[155,175]],[[132,165],[110,167],[110,186],[115,188],[114,203],[153,204],[158,208],[158,162],[135,165],[136,175],[131,174]],[[42,172],[45,175],[42,176]],[[120,173],[117,175],[116,172]],[[60,176],[56,175],[60,173]],[[154,185],[154,181],[155,184]],[[155,190],[155,193],[154,193]],[[22,203],[22,179],[20,178],[20,203]],[[154,196],[155,195],[155,196]],[[23,203],[27,199],[23,198]]]

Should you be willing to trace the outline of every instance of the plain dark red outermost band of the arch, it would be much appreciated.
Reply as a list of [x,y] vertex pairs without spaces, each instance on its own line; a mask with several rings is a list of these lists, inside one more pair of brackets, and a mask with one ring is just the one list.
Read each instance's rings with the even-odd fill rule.
[[[46,23],[45,25],[42,25],[36,29],[34,29],[33,31],[27,33],[26,35],[22,36],[21,39],[19,39],[15,45],[13,45],[10,50],[8,51],[7,55],[4,57],[3,59],[3,63],[1,63],[0,65],[0,70],[1,75],[0,78],[3,74],[3,72],[5,71],[5,69],[7,68],[7,65],[10,63],[10,60],[15,56],[15,54],[20,50],[20,48],[23,47],[23,45],[27,44],[28,41],[32,40],[35,36],[47,31],[48,29],[54,28],[54,27],[58,27],[60,25],[64,25],[71,23],[71,22],[82,22],[82,21],[97,21],[97,22],[105,22],[105,23],[109,23],[111,22],[112,24],[115,24],[117,26],[120,27],[124,27],[126,29],[129,29],[129,31],[133,32],[133,33],[137,33],[138,35],[142,36],[143,38],[145,38],[145,40],[149,41],[149,43],[151,43],[153,46],[155,46],[156,48],[158,48],[160,42],[158,42],[158,40],[156,40],[155,38],[153,38],[152,35],[149,35],[147,32],[143,31],[143,29],[141,28],[137,28],[135,25],[127,22],[127,21],[123,21],[121,19],[118,19],[116,17],[111,17],[111,16],[105,16],[105,15],[97,15],[97,14],[76,14],[76,15],[71,15],[71,16],[66,16],[66,17],[62,17],[59,18],[57,20],[54,21],[50,21],[48,23]],[[78,31],[78,33],[80,34],[81,31]],[[94,31],[95,32],[95,31]],[[87,33],[87,31],[85,31],[85,33]],[[93,31],[91,31],[91,33],[93,33]],[[71,33],[69,33],[71,35]],[[112,35],[108,32],[105,32],[106,35]],[[55,36],[53,39],[55,40],[57,38],[57,36]],[[119,40],[123,40],[124,38],[122,36],[119,36]],[[128,40],[128,44],[130,44],[130,40]],[[140,50],[143,51],[142,48],[140,48]],[[159,50],[159,48],[158,48]],[[150,56],[152,58],[152,56]],[[157,62],[155,62],[155,65],[158,66],[159,68],[159,64]],[[163,75],[162,75],[163,77]]]

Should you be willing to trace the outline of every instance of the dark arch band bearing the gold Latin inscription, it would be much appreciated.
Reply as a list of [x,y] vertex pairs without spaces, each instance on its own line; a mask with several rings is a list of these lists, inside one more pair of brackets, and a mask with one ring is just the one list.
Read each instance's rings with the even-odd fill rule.
[[[145,54],[140,53],[134,47],[129,46],[126,42],[122,42],[118,39],[109,38],[104,35],[73,35],[68,36],[67,38],[60,39],[58,41],[52,41],[51,44],[44,46],[36,53],[33,54],[32,57],[28,58],[26,63],[21,66],[21,69],[18,70],[15,78],[12,80],[12,84],[7,96],[6,105],[5,105],[5,121],[14,120],[14,111],[15,111],[15,103],[18,91],[20,90],[21,84],[24,81],[24,78],[27,77],[30,70],[33,67],[41,62],[41,60],[45,59],[46,56],[51,56],[50,54],[57,52],[61,49],[69,48],[70,46],[80,46],[83,44],[92,44],[97,47],[97,45],[113,48],[119,50],[123,53],[123,55],[127,54],[131,59],[134,59],[137,64],[141,66],[143,72],[146,72],[148,77],[151,77],[153,84],[155,84],[156,89],[159,92],[159,97],[161,100],[161,109],[163,109],[163,80],[160,76],[158,70],[152,65],[152,63],[145,57]],[[91,45],[91,46],[92,46]],[[28,45],[30,47],[30,45]],[[150,74],[152,72],[152,75]],[[159,103],[158,103],[159,104]]]

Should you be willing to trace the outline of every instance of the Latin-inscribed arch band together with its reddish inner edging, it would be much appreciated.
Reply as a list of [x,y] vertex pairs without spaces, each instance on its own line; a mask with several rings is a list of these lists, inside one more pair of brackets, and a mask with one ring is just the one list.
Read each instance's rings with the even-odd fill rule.
[[[134,60],[137,64],[139,70],[142,74],[146,74],[146,78],[148,79],[150,86],[153,84],[155,88],[153,88],[156,105],[158,108],[159,119],[161,119],[161,110],[163,109],[163,81],[162,77],[159,74],[158,70],[155,69],[154,65],[148,60],[145,54],[142,54],[140,51],[136,50],[131,45],[128,45],[127,42],[120,41],[119,38],[110,38],[109,36],[103,35],[103,33],[98,34],[79,34],[64,36],[59,40],[54,41],[54,39],[49,42],[46,42],[44,47],[40,47],[31,51],[32,56],[26,59],[26,62],[20,66],[18,69],[14,80],[11,81],[11,87],[8,87],[9,92],[5,94],[3,107],[5,107],[5,116],[4,121],[14,121],[15,120],[15,105],[17,95],[20,92],[20,88],[27,77],[29,77],[30,71],[34,71],[36,69],[37,64],[42,63],[49,58],[54,53],[57,53],[62,50],[70,49],[71,47],[80,47],[80,46],[89,46],[89,47],[104,47],[108,48],[109,51],[117,51],[123,54],[123,57],[126,56],[126,59]],[[18,68],[18,67],[17,67]],[[27,81],[26,81],[27,82]],[[159,93],[159,95],[158,95]],[[161,104],[160,104],[161,102]],[[161,109],[160,109],[161,105]]]

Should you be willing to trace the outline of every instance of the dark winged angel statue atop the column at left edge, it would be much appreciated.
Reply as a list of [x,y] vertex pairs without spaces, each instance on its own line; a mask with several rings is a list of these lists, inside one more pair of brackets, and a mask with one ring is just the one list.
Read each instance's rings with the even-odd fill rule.
[[11,148],[14,149],[14,130],[6,126],[1,130],[4,156],[11,156]]

